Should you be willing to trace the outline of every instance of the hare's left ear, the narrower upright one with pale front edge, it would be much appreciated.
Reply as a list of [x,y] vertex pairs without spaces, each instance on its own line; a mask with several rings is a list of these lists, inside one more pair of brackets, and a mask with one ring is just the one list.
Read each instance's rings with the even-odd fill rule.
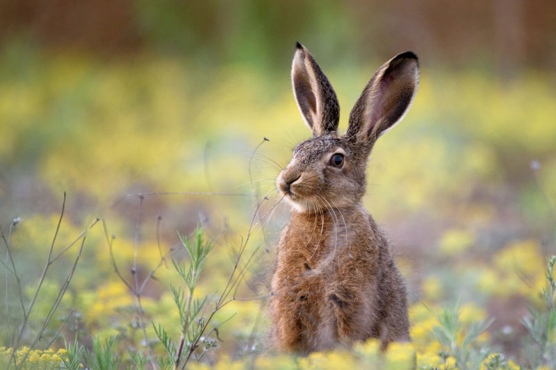
[[299,42],[293,56],[291,82],[297,106],[313,136],[336,132],[340,120],[336,92],[311,53]]

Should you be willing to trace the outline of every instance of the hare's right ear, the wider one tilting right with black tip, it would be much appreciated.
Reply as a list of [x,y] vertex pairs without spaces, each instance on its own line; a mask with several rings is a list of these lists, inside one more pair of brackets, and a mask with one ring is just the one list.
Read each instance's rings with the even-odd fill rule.
[[350,113],[345,135],[374,144],[402,120],[419,84],[419,62],[411,52],[398,54],[378,69]]

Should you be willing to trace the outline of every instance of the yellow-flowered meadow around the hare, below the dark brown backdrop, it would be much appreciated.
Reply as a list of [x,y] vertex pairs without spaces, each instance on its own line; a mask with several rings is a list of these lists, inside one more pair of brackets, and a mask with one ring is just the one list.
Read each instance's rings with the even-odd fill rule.
[[[266,340],[288,220],[275,177],[310,136],[288,65],[17,44],[1,60],[5,366],[172,369],[184,335],[191,369],[556,367],[554,76],[423,65],[414,106],[373,150],[364,199],[409,285],[412,342],[300,357]],[[322,62],[341,131],[380,64]]]

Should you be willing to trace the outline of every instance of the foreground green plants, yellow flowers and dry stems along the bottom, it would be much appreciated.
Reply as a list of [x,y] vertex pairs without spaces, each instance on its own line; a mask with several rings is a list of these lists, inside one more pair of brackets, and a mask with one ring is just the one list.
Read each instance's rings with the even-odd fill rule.
[[[142,198],[141,204],[142,204]],[[265,199],[263,199],[265,200]],[[260,203],[254,205],[255,215],[259,211]],[[65,200],[63,209],[65,208]],[[63,212],[60,215],[61,223]],[[484,312],[476,305],[466,304],[460,305],[459,302],[452,307],[432,308],[426,303],[416,303],[411,308],[411,337],[412,343],[393,343],[389,346],[386,353],[380,351],[379,339],[369,339],[364,343],[357,343],[353,348],[339,348],[335,351],[324,353],[312,353],[309,356],[298,357],[295,355],[272,354],[272,351],[261,351],[253,345],[247,348],[244,354],[236,360],[229,355],[222,355],[218,342],[222,342],[219,335],[219,328],[229,319],[234,317],[232,314],[229,319],[220,323],[214,323],[213,317],[222,310],[225,305],[234,301],[241,301],[237,298],[238,284],[243,280],[248,264],[251,262],[252,256],[247,261],[242,260],[243,253],[249,237],[252,233],[252,227],[256,225],[253,217],[252,224],[248,230],[247,237],[242,241],[240,249],[237,251],[234,259],[234,267],[224,286],[221,294],[199,295],[195,294],[199,278],[208,271],[204,269],[209,258],[209,253],[213,249],[213,242],[208,241],[204,237],[202,228],[197,227],[191,237],[183,237],[179,235],[181,245],[179,248],[173,248],[163,254],[161,252],[160,262],[150,271],[142,283],[136,278],[136,274],[132,274],[131,280],[126,280],[122,276],[117,264],[114,260],[113,242],[115,236],[108,236],[108,228],[103,220],[106,242],[110,251],[111,262],[115,274],[120,278],[131,294],[136,298],[131,303],[133,309],[136,310],[138,321],[136,326],[139,332],[145,335],[140,346],[133,346],[133,338],[126,335],[108,336],[104,340],[99,336],[92,337],[90,349],[85,348],[82,344],[87,338],[80,338],[76,335],[73,342],[65,342],[65,348],[55,351],[53,348],[41,351],[31,349],[26,346],[22,348],[0,348],[0,363],[3,367],[13,366],[16,369],[119,369],[122,367],[130,369],[209,369],[216,368],[233,368],[233,369],[353,369],[357,367],[371,367],[382,369],[553,369],[556,367],[556,310],[555,310],[555,294],[556,281],[554,277],[554,267],[556,264],[556,256],[548,260],[546,268],[546,286],[539,292],[540,301],[532,301],[530,314],[523,317],[522,324],[528,330],[528,335],[523,337],[523,364],[521,367],[512,360],[508,360],[503,353],[496,353],[489,344],[489,335],[486,329],[489,328],[493,319],[478,320],[478,317],[484,316]],[[12,226],[17,222],[15,220]],[[95,223],[98,220],[95,221]],[[5,265],[6,272],[10,272],[19,282],[15,264],[11,256],[11,235],[12,228],[8,237],[2,232],[1,237],[8,251],[8,260],[12,262],[11,267]],[[56,235],[54,242],[56,242]],[[83,249],[86,230],[74,239],[70,244],[76,244],[81,239],[81,249],[76,258],[75,264],[79,261],[79,256]],[[54,242],[52,243],[54,245]],[[159,246],[160,247],[160,246]],[[67,248],[69,249],[69,248]],[[63,249],[63,253],[67,251]],[[187,253],[187,262],[178,262],[172,257],[176,251],[184,249]],[[527,250],[523,251],[527,252]],[[54,263],[58,258],[51,257],[49,253],[47,267]],[[61,254],[60,254],[61,255]],[[525,257],[525,256],[524,256]],[[527,256],[530,260],[533,256]],[[152,321],[147,323],[145,320],[145,309],[141,303],[142,292],[147,284],[154,277],[156,271],[168,261],[172,262],[174,273],[179,276],[178,279],[172,279],[174,282],[170,284],[169,290],[174,301],[174,312],[177,312],[177,323],[181,333],[178,337],[172,337],[165,326],[161,323]],[[72,269],[67,283],[70,283]],[[47,269],[47,268],[45,268]],[[136,267],[133,267],[136,269]],[[133,270],[132,270],[133,271]],[[35,296],[41,289],[41,279]],[[430,284],[430,283],[429,283]],[[50,312],[56,311],[58,303],[63,299],[65,288],[58,293],[54,305],[51,306]],[[430,287],[428,289],[431,289]],[[232,293],[233,292],[233,293]],[[22,308],[24,312],[23,325],[9,326],[13,328],[10,333],[12,338],[22,337],[24,333],[26,317],[31,315],[33,302],[28,305],[25,310],[22,292],[19,292],[22,300]],[[263,300],[263,298],[254,298],[254,300]],[[540,304],[539,304],[540,303]],[[535,307],[537,305],[537,307]],[[71,313],[70,313],[71,314]],[[49,343],[60,334],[70,317],[65,319],[63,325],[54,335]],[[46,323],[47,324],[47,323]],[[37,344],[40,335],[44,333],[44,327],[35,337],[33,345]],[[8,323],[9,325],[9,323]],[[149,338],[147,334],[147,325],[152,326],[152,330],[156,334],[156,340]],[[207,330],[208,329],[208,330]],[[131,339],[131,340],[130,340]],[[17,343],[17,342],[16,342]],[[122,350],[125,348],[125,352]]]

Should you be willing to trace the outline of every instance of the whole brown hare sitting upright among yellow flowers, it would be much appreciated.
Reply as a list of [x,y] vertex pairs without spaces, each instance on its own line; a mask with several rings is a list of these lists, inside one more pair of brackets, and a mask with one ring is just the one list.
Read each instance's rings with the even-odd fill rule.
[[292,206],[271,283],[270,339],[278,351],[309,353],[370,337],[379,338],[383,349],[409,341],[404,279],[361,198],[370,151],[404,117],[418,81],[418,58],[411,51],[384,63],[340,135],[336,93],[297,43],[293,93],[313,137],[295,146],[277,178]]

